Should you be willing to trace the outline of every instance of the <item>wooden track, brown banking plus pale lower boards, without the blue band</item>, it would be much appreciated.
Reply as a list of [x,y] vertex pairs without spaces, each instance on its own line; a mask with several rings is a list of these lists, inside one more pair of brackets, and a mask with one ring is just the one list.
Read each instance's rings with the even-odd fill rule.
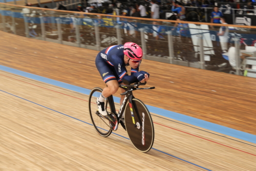
[[[104,87],[96,51],[0,34],[1,65]],[[146,104],[255,134],[255,79],[148,60],[141,70],[156,86],[135,92]],[[154,149],[142,154],[121,128],[95,132],[87,95],[3,71],[0,90],[0,170],[256,170],[253,143],[152,113]]]

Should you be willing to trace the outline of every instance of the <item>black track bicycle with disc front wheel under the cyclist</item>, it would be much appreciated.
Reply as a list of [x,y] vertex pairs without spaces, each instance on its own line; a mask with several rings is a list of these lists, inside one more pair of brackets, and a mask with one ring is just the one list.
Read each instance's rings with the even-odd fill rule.
[[[89,112],[92,123],[97,133],[102,137],[110,136],[112,131],[118,129],[120,123],[123,129],[126,130],[135,148],[140,152],[146,153],[150,151],[154,143],[155,132],[153,120],[145,104],[133,96],[133,91],[155,89],[155,87],[139,88],[139,86],[145,85],[146,82],[136,82],[134,84],[130,84],[125,80],[123,82],[127,85],[119,84],[119,87],[126,91],[121,94],[125,95],[125,97],[118,113],[116,112],[113,96],[111,95],[105,99],[105,110],[108,112],[108,119],[98,112],[96,103],[102,89],[96,87],[90,92]],[[121,119],[123,114],[124,122]]]

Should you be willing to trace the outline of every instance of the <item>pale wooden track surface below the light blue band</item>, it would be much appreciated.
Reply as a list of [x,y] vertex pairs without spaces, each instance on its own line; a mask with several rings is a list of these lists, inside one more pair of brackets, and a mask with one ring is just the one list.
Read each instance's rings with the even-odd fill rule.
[[[154,113],[153,147],[177,158],[155,149],[140,153],[129,140],[114,134],[103,138],[93,126],[74,119],[91,123],[87,95],[7,72],[0,74],[0,170],[256,168],[255,144],[211,134]],[[127,137],[121,127],[115,133]]]

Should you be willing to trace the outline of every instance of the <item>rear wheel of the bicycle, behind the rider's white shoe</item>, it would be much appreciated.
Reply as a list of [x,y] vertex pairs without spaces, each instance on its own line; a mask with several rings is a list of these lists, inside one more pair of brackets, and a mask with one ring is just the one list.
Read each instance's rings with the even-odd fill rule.
[[[112,129],[109,125],[109,120],[105,119],[98,113],[97,98],[102,93],[102,89],[94,88],[89,95],[89,113],[93,122],[93,126],[97,133],[102,137],[108,137],[112,133]],[[105,109],[109,113],[111,106],[108,101],[105,100]]]

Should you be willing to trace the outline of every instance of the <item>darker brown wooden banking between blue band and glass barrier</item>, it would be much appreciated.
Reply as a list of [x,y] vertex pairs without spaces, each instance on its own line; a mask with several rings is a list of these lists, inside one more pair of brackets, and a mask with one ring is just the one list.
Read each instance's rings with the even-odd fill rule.
[[[104,88],[96,67],[97,51],[0,32],[0,64],[86,89]],[[149,105],[256,135],[254,78],[143,60],[151,74],[135,92]],[[116,96],[119,96],[118,93]]]

